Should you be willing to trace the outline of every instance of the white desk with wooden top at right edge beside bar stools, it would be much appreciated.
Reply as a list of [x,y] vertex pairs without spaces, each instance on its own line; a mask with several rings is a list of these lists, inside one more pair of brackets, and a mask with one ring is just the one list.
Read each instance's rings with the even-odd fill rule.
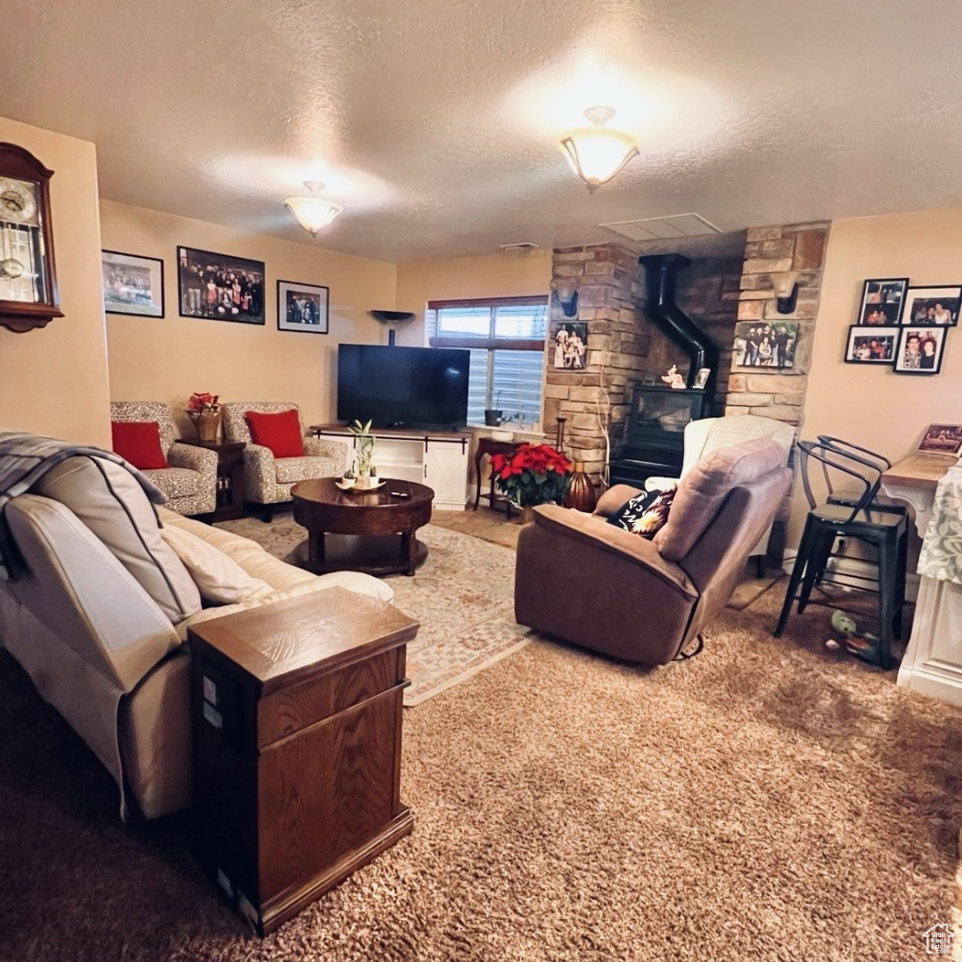
[[[935,489],[954,457],[913,454],[882,475],[882,491],[915,510],[925,537]],[[912,637],[899,667],[898,684],[962,705],[962,585],[921,575]]]

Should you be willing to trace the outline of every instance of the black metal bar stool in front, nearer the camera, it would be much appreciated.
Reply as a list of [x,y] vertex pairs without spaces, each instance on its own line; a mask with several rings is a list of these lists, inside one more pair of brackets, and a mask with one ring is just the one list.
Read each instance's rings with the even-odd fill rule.
[[[832,548],[838,538],[850,538],[871,544],[875,550],[878,575],[863,579],[875,584],[878,595],[879,659],[883,669],[892,664],[892,642],[901,637],[901,614],[905,599],[905,556],[908,545],[904,512],[888,510],[875,503],[881,482],[881,462],[855,453],[849,445],[843,450],[831,439],[798,442],[802,487],[808,500],[809,513],[798,545],[798,554],[789,577],[785,602],[773,632],[778,638],[785,629],[792,604],[797,600],[800,615],[811,601],[812,590],[823,581]],[[866,452],[871,453],[871,452]],[[884,460],[884,459],[883,459]],[[828,499],[820,503],[812,489],[811,474],[821,469],[826,479]],[[832,475],[856,483],[854,503],[832,503]],[[851,499],[849,499],[851,500]],[[860,576],[852,575],[859,579]]]

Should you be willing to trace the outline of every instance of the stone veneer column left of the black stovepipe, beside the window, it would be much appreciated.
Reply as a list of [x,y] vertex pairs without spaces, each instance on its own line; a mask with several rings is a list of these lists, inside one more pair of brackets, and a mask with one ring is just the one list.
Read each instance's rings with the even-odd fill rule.
[[[574,280],[578,314],[566,317],[557,295],[551,295],[550,325],[545,349],[544,433],[550,439],[556,418],[567,418],[565,448],[585,462],[593,480],[605,463],[604,431],[598,406],[610,403],[609,438],[620,446],[631,405],[630,382],[645,367],[649,336],[639,311],[638,255],[617,243],[559,247],[554,251],[554,280]],[[554,285],[552,285],[553,288]],[[588,360],[583,370],[554,367],[554,334],[559,323],[588,324]]]

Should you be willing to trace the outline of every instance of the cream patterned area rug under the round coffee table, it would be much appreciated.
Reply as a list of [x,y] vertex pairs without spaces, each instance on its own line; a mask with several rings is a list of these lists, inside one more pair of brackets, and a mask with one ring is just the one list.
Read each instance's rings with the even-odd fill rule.
[[[305,530],[290,518],[270,524],[253,518],[217,527],[263,544],[271,554],[292,560]],[[465,681],[531,640],[515,621],[515,552],[500,544],[448,531],[434,524],[418,530],[428,558],[414,577],[392,575],[394,604],[420,621],[408,645],[404,704],[418,705]]]

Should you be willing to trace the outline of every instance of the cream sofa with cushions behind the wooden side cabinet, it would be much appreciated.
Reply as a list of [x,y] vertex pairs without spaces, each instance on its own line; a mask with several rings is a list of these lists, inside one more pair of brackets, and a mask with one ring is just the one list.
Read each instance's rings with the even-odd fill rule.
[[393,596],[155,513],[126,468],[96,457],[48,470],[4,519],[23,564],[0,581],[0,646],[114,775],[125,818],[131,802],[148,819],[190,805],[191,624],[335,586]]

